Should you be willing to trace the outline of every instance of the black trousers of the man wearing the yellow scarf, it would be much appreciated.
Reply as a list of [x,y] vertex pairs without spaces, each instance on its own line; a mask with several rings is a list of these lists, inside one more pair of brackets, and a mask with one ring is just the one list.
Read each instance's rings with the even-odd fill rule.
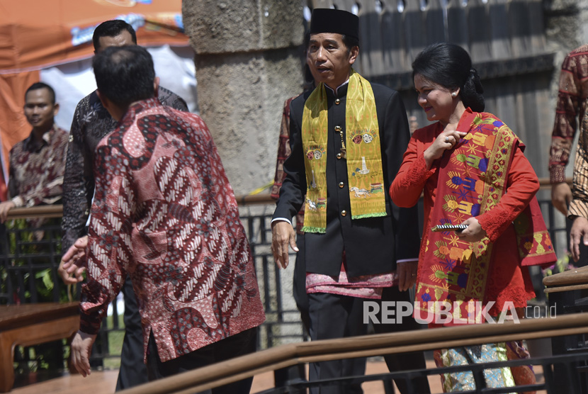
[[[363,322],[364,298],[349,297],[330,293],[314,293],[308,295],[310,310],[310,338],[312,340],[334,339],[342,337],[354,337],[365,335],[368,325]],[[382,301],[410,302],[407,291],[398,291],[397,286],[385,288]],[[373,300],[369,300],[373,301]],[[402,323],[374,325],[377,333],[408,332],[418,330],[419,325],[412,317],[405,317]],[[407,371],[412,369],[424,369],[426,363],[422,351],[408,354],[384,356],[390,372]],[[342,378],[347,376],[361,376],[366,372],[366,359],[334,360],[312,363],[309,367],[311,381],[317,379]],[[414,379],[412,390],[408,389],[406,381],[395,381],[400,393],[410,394],[430,393],[429,382],[425,378]],[[320,388],[312,388],[311,393],[339,394],[362,393],[359,384],[350,385],[323,385]]]

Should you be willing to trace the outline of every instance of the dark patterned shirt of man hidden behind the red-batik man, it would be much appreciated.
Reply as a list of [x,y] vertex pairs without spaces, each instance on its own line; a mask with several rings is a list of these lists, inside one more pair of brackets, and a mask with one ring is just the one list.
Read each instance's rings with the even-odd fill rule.
[[[188,111],[186,101],[159,86],[159,101],[180,111]],[[86,235],[86,222],[94,196],[94,151],[100,140],[116,127],[116,120],[102,106],[96,91],[81,99],[76,107],[63,182],[62,250],[69,249]]]

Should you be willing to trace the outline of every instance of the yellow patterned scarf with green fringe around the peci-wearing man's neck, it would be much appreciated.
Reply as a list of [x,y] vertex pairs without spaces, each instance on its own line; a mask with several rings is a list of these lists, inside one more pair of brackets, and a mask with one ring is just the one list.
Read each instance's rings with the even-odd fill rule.
[[[324,84],[305,102],[302,123],[307,181],[305,232],[327,229],[327,141],[329,121]],[[347,180],[351,218],[386,215],[378,114],[371,84],[353,69],[345,107]],[[334,135],[334,138],[339,136]]]

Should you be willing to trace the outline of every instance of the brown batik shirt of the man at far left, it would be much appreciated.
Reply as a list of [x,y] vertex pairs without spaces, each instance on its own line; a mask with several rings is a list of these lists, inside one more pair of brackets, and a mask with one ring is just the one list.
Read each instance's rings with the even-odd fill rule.
[[57,126],[36,142],[33,133],[10,151],[9,193],[17,207],[53,204],[62,196],[67,131]]

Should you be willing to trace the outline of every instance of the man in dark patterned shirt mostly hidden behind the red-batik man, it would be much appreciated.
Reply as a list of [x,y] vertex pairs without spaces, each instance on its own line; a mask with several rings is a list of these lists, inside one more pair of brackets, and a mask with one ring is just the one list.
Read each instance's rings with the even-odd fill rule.
[[[101,23],[93,36],[94,52],[111,46],[133,45],[137,43],[135,30],[125,21],[114,20]],[[181,111],[188,111],[185,101],[171,91],[159,87],[159,101]],[[102,106],[96,91],[81,99],[78,103],[70,129],[69,150],[65,166],[63,185],[63,239],[62,250],[69,247],[80,237],[79,245],[86,242],[86,222],[92,196],[94,196],[94,151],[96,145],[111,133],[116,120]],[[66,272],[60,266],[60,275],[65,283],[76,283],[74,268]],[[142,364],[141,320],[135,295],[130,281],[123,287],[125,295],[125,339],[120,354],[120,370],[116,390],[124,390],[147,382],[147,370]]]

